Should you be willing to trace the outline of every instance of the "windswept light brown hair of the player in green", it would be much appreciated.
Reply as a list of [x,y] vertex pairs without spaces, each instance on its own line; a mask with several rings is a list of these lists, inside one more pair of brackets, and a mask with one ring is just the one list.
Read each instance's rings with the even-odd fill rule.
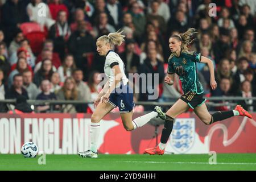
[[195,39],[192,39],[193,35],[197,34],[195,28],[189,28],[183,34],[172,35],[171,37],[176,38],[182,42],[181,49],[188,51],[188,46],[191,44]]

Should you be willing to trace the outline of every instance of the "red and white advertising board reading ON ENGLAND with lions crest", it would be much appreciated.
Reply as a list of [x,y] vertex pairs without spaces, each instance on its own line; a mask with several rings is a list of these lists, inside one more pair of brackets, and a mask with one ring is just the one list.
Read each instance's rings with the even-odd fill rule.
[[[137,118],[143,113],[135,113]],[[77,154],[90,147],[91,114],[0,114],[0,154],[20,154],[24,142],[34,142],[46,154]],[[256,118],[256,113],[253,113]],[[143,154],[160,142],[163,125],[157,130],[147,124],[134,131],[123,128],[120,115],[111,113],[101,121],[99,152],[103,154]],[[232,117],[204,125],[193,113],[179,115],[168,140],[166,153],[207,154],[255,153],[256,122]]]

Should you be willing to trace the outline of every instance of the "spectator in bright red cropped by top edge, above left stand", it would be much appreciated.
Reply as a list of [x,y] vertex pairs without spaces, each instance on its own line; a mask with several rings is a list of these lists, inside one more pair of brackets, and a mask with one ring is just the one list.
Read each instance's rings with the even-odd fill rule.
[[64,11],[67,15],[67,19],[68,19],[68,9],[67,6],[65,6],[63,4],[62,0],[50,0],[49,1],[49,11],[51,13],[52,19],[57,20],[57,16],[59,14],[60,11]]

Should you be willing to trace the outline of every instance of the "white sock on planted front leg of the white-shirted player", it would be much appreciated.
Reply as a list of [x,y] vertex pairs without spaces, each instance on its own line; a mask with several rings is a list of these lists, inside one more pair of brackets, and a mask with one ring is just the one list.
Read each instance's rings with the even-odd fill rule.
[[90,150],[97,152],[100,137],[100,123],[90,123]]

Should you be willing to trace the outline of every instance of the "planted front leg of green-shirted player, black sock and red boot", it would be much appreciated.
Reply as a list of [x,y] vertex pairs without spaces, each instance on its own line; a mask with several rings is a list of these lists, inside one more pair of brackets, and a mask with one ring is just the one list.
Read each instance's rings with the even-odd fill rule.
[[158,146],[153,148],[147,148],[144,153],[151,155],[163,155],[164,148],[166,147],[166,143],[171,135],[172,128],[174,126],[174,119],[184,113],[189,108],[188,104],[183,100],[179,99],[175,104],[166,112],[166,121],[164,122],[164,128],[162,130],[162,135],[160,139],[160,143]]

